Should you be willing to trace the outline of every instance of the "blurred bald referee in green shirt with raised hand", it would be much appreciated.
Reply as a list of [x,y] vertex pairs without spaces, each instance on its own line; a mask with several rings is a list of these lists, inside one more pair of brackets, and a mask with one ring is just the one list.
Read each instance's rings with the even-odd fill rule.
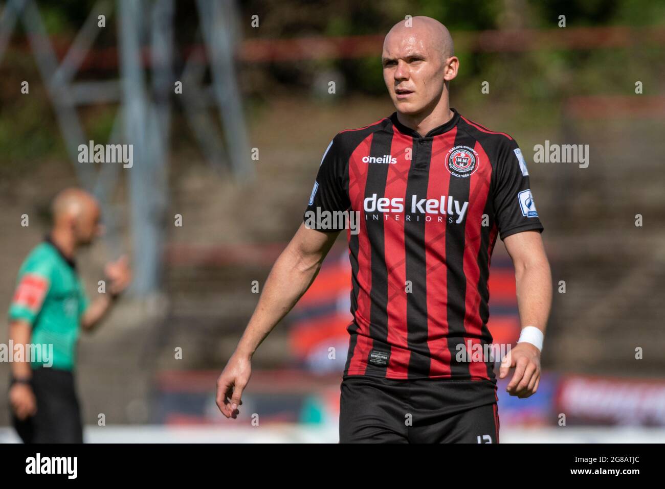
[[[80,443],[80,408],[74,385],[76,342],[100,323],[129,284],[126,258],[106,265],[106,293],[88,303],[74,255],[100,233],[97,201],[66,189],[53,201],[53,229],[27,256],[9,308],[9,340],[26,355],[13,359],[9,402],[25,443]],[[27,356],[30,356],[29,358]]]

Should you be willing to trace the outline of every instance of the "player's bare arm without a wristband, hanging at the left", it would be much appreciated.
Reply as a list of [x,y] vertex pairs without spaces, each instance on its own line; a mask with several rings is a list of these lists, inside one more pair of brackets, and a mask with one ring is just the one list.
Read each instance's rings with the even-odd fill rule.
[[252,355],[305,294],[338,234],[307,229],[303,224],[277,258],[249,324],[217,379],[217,406],[226,417],[237,416],[242,391],[251,375]]

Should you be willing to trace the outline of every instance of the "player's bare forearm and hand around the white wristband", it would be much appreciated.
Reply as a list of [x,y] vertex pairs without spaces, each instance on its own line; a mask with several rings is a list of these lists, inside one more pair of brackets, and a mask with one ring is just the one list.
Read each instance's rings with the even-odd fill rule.
[[[545,333],[552,304],[552,276],[540,233],[524,231],[507,237],[503,243],[515,266],[517,307],[522,328],[535,326]],[[521,342],[505,356],[499,378],[515,367],[507,391],[517,397],[529,397],[538,389],[541,352],[531,343]]]

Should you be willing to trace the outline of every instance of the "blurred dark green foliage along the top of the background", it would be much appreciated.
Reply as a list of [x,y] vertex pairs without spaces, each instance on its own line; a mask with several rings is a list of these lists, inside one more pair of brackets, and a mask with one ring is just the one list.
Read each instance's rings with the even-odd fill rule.
[[[60,39],[73,37],[88,16],[94,0],[40,2],[47,31]],[[192,8],[177,4],[176,33],[186,36],[192,29]],[[284,1],[247,0],[241,4],[243,19],[257,14],[260,29],[243,25],[245,37],[287,39],[289,37],[379,35],[406,15],[428,15],[442,21],[453,33],[473,35],[483,30],[557,29],[559,15],[565,15],[567,28],[589,26],[665,25],[665,1],[649,0],[339,0]],[[196,16],[195,16],[196,17]],[[186,19],[186,20],[183,20]],[[198,19],[195,19],[198,21]],[[115,31],[104,38],[116,43]],[[12,38],[21,37],[21,29]],[[194,35],[190,36],[194,39]],[[191,42],[191,41],[188,41]],[[660,73],[665,71],[662,47],[634,43],[623,49],[540,49],[523,52],[471,52],[460,43],[460,74],[451,84],[452,96],[467,106],[493,103],[549,106],[555,108],[569,96],[585,94],[634,94],[637,80],[644,82],[645,94],[662,90]],[[31,52],[11,49],[2,64],[0,76],[0,172],[21,172],[45,156],[67,157],[53,108],[42,86]],[[366,58],[325,59],[302,62],[252,64],[251,82],[243,84],[247,107],[258,114],[279,94],[309,92],[311,80],[323,70],[344,76],[348,95],[386,97],[380,63],[376,55]],[[100,78],[106,73],[94,74]],[[115,74],[114,74],[115,76]],[[22,80],[30,80],[31,92],[17,92]],[[489,98],[481,94],[483,82],[490,83]],[[264,107],[265,104],[265,107]],[[525,113],[528,110],[523,111]],[[551,112],[549,112],[551,114]],[[106,141],[112,129],[115,108],[90,110],[84,114],[84,130],[93,140]],[[534,114],[531,114],[533,116]],[[534,120],[534,119],[532,119]],[[182,136],[181,136],[182,137]],[[176,142],[177,143],[177,142]]]

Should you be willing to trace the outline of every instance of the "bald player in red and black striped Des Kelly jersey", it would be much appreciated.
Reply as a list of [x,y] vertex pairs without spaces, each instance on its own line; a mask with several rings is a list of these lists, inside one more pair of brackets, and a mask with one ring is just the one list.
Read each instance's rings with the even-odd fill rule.
[[[273,266],[217,381],[237,417],[259,344],[313,282],[346,226],[352,268],[350,344],[340,442],[499,442],[489,261],[497,236],[515,265],[522,333],[499,377],[511,395],[538,389],[551,273],[527,166],[511,136],[449,106],[460,64],[444,25],[414,17],[384,40],[391,116],[339,132],[327,147],[303,225]],[[316,216],[314,219],[313,216]],[[351,223],[352,221],[348,221]],[[352,232],[357,231],[357,232]]]

